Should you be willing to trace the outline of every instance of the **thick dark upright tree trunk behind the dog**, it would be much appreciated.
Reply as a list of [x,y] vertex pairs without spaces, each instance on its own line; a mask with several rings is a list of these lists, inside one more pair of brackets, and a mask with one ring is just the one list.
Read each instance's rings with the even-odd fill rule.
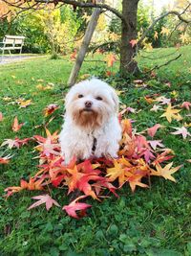
[[129,73],[138,73],[138,63],[134,59],[136,46],[130,41],[137,39],[137,14],[139,0],[123,0],[122,14],[125,21],[121,24],[120,74],[126,77]]

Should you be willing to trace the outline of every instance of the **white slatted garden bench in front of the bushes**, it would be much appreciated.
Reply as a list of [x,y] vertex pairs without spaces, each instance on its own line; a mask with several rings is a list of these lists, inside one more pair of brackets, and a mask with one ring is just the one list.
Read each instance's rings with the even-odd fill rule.
[[20,35],[5,35],[3,42],[0,42],[0,51],[2,51],[1,60],[3,59],[5,51],[9,51],[11,55],[11,50],[20,50],[22,53],[22,47],[24,44],[25,36]]

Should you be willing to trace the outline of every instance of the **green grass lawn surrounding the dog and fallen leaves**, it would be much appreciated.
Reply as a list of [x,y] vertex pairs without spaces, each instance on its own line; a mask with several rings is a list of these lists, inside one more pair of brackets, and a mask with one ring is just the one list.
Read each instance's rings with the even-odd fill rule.
[[[161,58],[175,52],[176,49],[157,49],[153,54],[142,53],[148,58],[139,57],[140,66],[152,67],[165,62]],[[164,66],[157,73],[158,77],[145,81],[147,87],[136,87],[133,82],[118,81],[109,78],[118,89],[121,105],[136,108],[137,114],[129,114],[136,120],[134,127],[138,131],[153,127],[159,123],[165,128],[159,129],[156,138],[175,151],[175,166],[182,168],[174,176],[177,183],[163,178],[153,177],[150,189],[138,188],[135,194],[129,186],[118,192],[119,198],[111,196],[99,203],[90,199],[93,207],[88,217],[76,221],[57,207],[49,212],[44,206],[28,211],[32,197],[42,192],[23,191],[11,198],[3,197],[4,189],[17,186],[21,177],[36,173],[38,159],[33,151],[34,142],[21,149],[6,150],[0,148],[0,156],[13,154],[7,165],[0,165],[0,255],[67,255],[67,256],[119,256],[119,255],[191,255],[191,169],[186,159],[191,158],[189,139],[170,134],[173,127],[190,123],[188,110],[181,110],[183,120],[169,124],[165,118],[159,118],[163,111],[150,111],[144,96],[159,93],[174,99],[173,105],[179,105],[191,99],[191,46],[180,48],[177,54],[182,56],[176,62]],[[154,58],[154,59],[151,59]],[[169,57],[171,58],[171,57]],[[44,126],[50,117],[44,117],[46,105],[56,103],[59,109],[53,114],[54,119],[48,125],[53,132],[60,130],[63,98],[67,91],[68,80],[73,63],[67,58],[51,60],[36,58],[32,60],[0,66],[0,111],[4,119],[0,122],[0,144],[4,139],[32,137],[34,134],[45,135]],[[115,71],[117,68],[114,67]],[[104,74],[104,63],[85,62],[81,75]],[[171,86],[168,86],[168,83]],[[42,90],[42,86],[52,89]],[[124,86],[128,86],[124,88]],[[32,100],[32,105],[19,108],[15,102],[19,98]],[[162,107],[165,108],[165,107]],[[15,135],[11,130],[13,118],[25,123]],[[68,203],[66,192],[53,189],[53,198],[64,205]]]

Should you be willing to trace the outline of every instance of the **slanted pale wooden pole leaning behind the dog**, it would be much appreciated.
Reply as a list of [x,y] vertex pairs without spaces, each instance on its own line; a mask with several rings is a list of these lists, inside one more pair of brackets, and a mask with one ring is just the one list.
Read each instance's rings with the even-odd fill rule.
[[88,27],[86,29],[86,33],[84,35],[81,47],[79,49],[77,58],[76,58],[75,63],[74,63],[73,70],[71,72],[71,75],[70,75],[70,78],[69,78],[69,81],[68,81],[68,85],[70,85],[70,86],[74,85],[74,82],[77,78],[80,67],[81,67],[81,65],[83,63],[83,60],[85,58],[85,55],[88,51],[90,41],[91,41],[92,36],[93,36],[93,34],[95,32],[95,29],[96,29],[96,24],[97,24],[100,12],[101,12],[101,10],[99,8],[96,8],[94,10],[92,16],[91,16],[90,22],[89,22]]

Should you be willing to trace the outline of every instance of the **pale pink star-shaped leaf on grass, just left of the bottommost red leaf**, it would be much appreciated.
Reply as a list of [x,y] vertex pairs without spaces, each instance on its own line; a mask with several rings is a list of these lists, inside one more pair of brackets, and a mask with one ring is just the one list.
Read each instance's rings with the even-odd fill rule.
[[47,211],[49,211],[52,207],[53,204],[60,207],[59,203],[57,203],[53,198],[51,198],[49,195],[43,195],[43,196],[36,196],[33,197],[32,199],[38,200],[36,202],[34,202],[29,208],[28,210],[31,210],[34,207],[37,207],[43,203],[46,204],[46,209]]

